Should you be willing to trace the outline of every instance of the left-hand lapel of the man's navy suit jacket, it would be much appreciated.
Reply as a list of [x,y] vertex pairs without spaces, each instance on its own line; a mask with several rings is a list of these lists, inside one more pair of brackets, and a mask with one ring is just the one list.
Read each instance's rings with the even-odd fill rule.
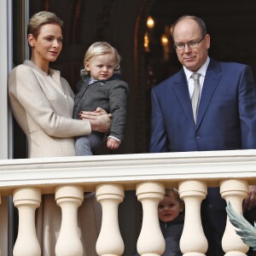
[[182,105],[183,111],[189,119],[189,123],[195,128],[191,101],[189,98],[189,87],[183,69],[178,73],[177,79],[174,80],[173,89],[177,95],[177,99]]

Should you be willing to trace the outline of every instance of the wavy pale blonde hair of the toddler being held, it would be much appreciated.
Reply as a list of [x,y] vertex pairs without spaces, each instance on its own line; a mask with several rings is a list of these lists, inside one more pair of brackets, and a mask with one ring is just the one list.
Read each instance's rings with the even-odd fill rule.
[[[106,54],[114,55],[113,73],[120,73],[119,62],[121,61],[121,56],[119,55],[119,52],[117,51],[117,49],[113,48],[113,46],[111,46],[107,42],[96,42],[94,44],[91,44],[90,47],[85,52],[84,64],[85,62],[90,61],[92,57],[95,57],[97,55],[106,55]],[[85,69],[81,70],[81,76],[87,75],[89,73],[90,72],[88,72]]]

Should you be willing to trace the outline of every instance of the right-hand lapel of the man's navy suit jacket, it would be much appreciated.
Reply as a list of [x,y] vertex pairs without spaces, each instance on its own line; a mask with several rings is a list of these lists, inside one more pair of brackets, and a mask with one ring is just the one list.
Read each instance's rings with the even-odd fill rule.
[[196,128],[201,125],[201,121],[207,112],[212,95],[217,88],[218,82],[221,79],[221,68],[217,61],[210,61],[207,68],[206,78],[204,80],[203,89],[201,92],[201,100],[198,109]]

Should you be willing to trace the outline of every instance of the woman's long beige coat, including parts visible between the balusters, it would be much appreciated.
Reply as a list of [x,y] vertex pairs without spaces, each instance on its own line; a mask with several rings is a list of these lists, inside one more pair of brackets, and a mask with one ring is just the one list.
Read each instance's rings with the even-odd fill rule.
[[[73,91],[58,71],[49,75],[32,61],[24,61],[9,74],[9,102],[26,133],[28,154],[34,157],[74,156],[74,137],[90,134],[90,122],[72,119]],[[43,256],[55,255],[61,227],[61,208],[54,195],[44,195],[37,211],[37,233]],[[84,255],[96,255],[101,207],[95,196],[79,207],[79,230]]]

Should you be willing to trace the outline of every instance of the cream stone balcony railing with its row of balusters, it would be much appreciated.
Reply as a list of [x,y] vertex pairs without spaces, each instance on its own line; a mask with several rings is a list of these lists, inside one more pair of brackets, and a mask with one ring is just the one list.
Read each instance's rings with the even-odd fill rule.
[[[55,194],[56,204],[62,212],[56,255],[83,255],[79,237],[75,235],[76,228],[70,230],[67,227],[77,222],[76,214],[70,212],[77,211],[85,191],[96,191],[96,198],[102,204],[102,229],[96,242],[97,253],[102,256],[122,255],[125,245],[119,232],[118,206],[124,199],[124,191],[131,189],[136,190],[137,200],[143,205],[143,225],[137,250],[142,255],[157,256],[165,246],[158,224],[157,205],[165,187],[178,188],[186,207],[181,250],[186,256],[202,256],[207,252],[207,239],[201,226],[200,208],[207,195],[207,187],[219,186],[222,197],[231,202],[236,212],[242,212],[247,185],[255,183],[256,150],[1,160],[1,255],[8,255],[8,195],[13,195],[14,205],[19,209],[20,228],[15,241],[15,256],[41,255],[34,212],[40,205],[40,195],[49,193]],[[61,249],[67,243],[73,245],[70,253],[67,247],[65,251]],[[27,248],[30,254],[26,254]],[[246,255],[248,250],[229,221],[223,248],[225,255],[236,256]]]

